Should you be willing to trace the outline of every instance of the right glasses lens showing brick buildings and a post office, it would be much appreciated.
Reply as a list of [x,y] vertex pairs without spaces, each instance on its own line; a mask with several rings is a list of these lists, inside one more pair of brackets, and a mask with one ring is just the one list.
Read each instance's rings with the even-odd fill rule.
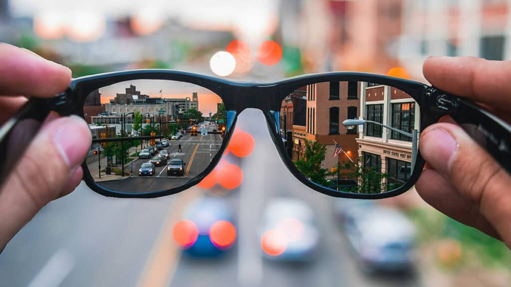
[[379,194],[410,179],[419,118],[419,106],[397,88],[322,82],[297,87],[282,101],[279,128],[290,159],[312,182]]

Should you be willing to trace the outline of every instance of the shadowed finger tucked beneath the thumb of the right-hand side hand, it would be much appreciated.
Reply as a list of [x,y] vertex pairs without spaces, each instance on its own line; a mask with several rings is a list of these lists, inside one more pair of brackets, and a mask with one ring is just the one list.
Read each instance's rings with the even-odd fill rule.
[[424,201],[446,216],[500,239],[495,228],[482,216],[477,206],[462,197],[449,181],[434,170],[425,170],[415,183]]

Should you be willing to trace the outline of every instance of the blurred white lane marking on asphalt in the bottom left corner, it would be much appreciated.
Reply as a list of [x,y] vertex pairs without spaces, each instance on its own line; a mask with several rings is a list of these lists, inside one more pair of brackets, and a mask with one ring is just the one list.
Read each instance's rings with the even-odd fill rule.
[[57,287],[73,270],[75,260],[71,253],[60,249],[46,262],[44,267],[28,284],[29,287]]

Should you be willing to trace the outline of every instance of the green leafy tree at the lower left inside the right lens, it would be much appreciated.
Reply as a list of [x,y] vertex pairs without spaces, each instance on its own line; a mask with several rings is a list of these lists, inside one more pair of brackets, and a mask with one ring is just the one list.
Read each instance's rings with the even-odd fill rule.
[[327,154],[327,147],[321,145],[317,140],[305,140],[304,156],[294,162],[296,168],[302,172],[311,181],[327,185],[328,170],[321,168],[325,155]]

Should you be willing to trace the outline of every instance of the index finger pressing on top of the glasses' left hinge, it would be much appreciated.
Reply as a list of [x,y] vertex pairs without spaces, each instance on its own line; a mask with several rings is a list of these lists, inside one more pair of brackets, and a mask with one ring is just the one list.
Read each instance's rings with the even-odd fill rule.
[[71,70],[27,50],[0,43],[0,94],[53,97],[71,82]]

